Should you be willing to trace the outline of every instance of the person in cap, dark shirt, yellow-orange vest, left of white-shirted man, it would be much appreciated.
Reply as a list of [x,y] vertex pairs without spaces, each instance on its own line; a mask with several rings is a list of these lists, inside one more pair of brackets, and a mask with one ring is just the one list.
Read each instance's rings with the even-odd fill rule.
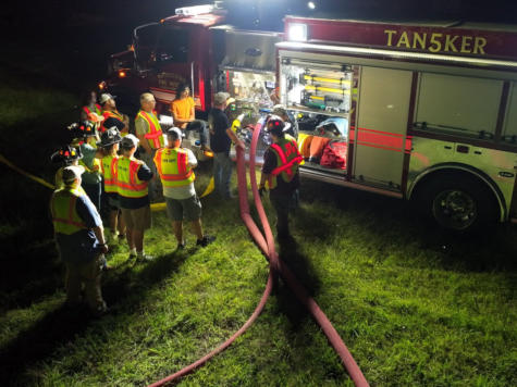
[[151,261],[153,257],[144,251],[144,234],[151,227],[151,209],[147,186],[153,178],[152,171],[141,160],[134,158],[138,138],[127,135],[122,138],[119,159],[113,159],[113,177],[119,192],[122,219],[127,228],[126,238],[130,258]]

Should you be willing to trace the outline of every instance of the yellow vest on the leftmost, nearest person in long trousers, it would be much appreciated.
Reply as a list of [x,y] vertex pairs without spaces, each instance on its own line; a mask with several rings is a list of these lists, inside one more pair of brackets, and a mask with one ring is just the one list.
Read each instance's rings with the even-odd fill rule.
[[71,235],[87,229],[85,222],[75,209],[77,198],[85,194],[82,194],[78,187],[62,188],[53,192],[50,200],[50,211],[56,233]]

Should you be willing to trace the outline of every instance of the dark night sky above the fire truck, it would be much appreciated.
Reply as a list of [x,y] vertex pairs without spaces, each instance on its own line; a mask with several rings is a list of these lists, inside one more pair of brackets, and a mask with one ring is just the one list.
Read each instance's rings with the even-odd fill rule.
[[[305,0],[226,0],[230,23],[255,29],[281,29],[282,15],[308,12]],[[45,0],[12,1],[2,7],[3,47],[37,47],[57,55],[63,71],[84,74],[88,82],[102,77],[110,53],[124,50],[135,26],[172,15],[175,8],[202,0]],[[502,0],[315,0],[316,13],[333,17],[399,21],[477,21],[517,24],[517,1]],[[253,4],[258,5],[254,12]],[[69,63],[66,63],[69,62]],[[79,64],[78,66],[75,64]],[[86,64],[85,64],[86,63]],[[67,66],[67,67],[66,67]],[[82,66],[82,67],[81,67]],[[74,73],[75,72],[75,73]],[[85,83],[86,83],[85,80]]]

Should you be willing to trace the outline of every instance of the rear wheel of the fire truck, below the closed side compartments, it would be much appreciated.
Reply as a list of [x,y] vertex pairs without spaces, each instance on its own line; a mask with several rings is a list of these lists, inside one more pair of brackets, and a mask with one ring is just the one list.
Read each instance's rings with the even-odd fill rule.
[[442,227],[473,232],[496,220],[496,203],[490,189],[465,175],[441,175],[423,187],[427,212]]

